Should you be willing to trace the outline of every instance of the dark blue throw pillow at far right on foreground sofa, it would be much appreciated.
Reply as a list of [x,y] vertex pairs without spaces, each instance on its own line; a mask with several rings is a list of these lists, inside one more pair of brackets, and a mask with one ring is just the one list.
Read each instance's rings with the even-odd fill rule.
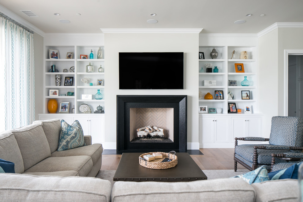
[[277,170],[268,173],[268,177],[270,180],[278,180],[278,179],[298,179],[298,170],[299,165],[301,163],[295,163],[294,165],[285,168],[283,170]]

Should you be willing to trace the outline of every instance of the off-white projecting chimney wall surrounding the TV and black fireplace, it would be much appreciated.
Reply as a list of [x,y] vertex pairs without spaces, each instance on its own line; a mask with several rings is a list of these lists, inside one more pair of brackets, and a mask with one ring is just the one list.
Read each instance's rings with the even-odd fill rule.
[[[199,34],[106,33],[105,40],[105,142],[116,144],[116,95],[188,95],[187,141],[188,149],[199,149],[198,121],[198,57]],[[119,90],[119,52],[184,52],[183,90]],[[121,64],[120,64],[121,65]],[[123,67],[123,64],[122,64]],[[169,76],[169,75],[165,75]],[[176,78],[178,79],[178,78]]]

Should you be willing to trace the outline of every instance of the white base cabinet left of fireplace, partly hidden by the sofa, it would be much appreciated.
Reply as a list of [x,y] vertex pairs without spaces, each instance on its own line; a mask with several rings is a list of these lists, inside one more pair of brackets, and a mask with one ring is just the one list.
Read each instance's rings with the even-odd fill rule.
[[92,143],[104,142],[104,117],[75,116],[82,126],[84,135],[92,136]]

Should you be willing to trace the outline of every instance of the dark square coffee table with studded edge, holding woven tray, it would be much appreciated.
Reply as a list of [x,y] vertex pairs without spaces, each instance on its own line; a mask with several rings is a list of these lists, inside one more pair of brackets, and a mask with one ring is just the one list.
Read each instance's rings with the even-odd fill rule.
[[150,169],[139,164],[142,153],[123,153],[114,181],[195,181],[207,176],[187,152],[176,153],[178,164],[168,169]]

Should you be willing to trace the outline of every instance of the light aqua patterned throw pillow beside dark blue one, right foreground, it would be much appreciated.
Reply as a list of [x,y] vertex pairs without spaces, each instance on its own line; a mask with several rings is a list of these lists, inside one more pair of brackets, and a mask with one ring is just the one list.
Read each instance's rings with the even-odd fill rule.
[[248,173],[237,175],[233,178],[241,178],[250,185],[252,183],[263,182],[269,180],[266,166],[261,166],[256,170],[252,170]]

